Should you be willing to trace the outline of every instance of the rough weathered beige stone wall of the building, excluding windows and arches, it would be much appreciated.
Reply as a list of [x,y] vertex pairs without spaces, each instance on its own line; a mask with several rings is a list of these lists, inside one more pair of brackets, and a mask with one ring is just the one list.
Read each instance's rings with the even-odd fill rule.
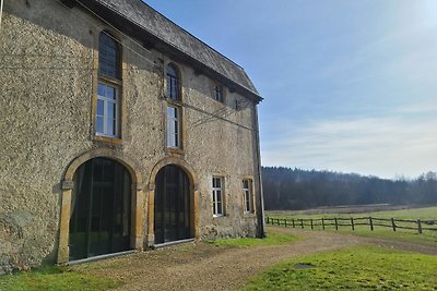
[[[79,8],[58,0],[5,1],[0,31],[0,274],[54,262],[59,238],[61,182],[84,153],[113,148],[139,167],[146,187],[156,163],[176,156],[198,177],[201,238],[255,235],[255,215],[244,215],[241,179],[257,190],[255,105],[235,109],[243,97],[227,92],[212,99],[212,80],[181,70],[184,153],[165,147],[164,65],[170,60]],[[98,34],[109,29],[122,43],[121,144],[93,136]],[[94,82],[94,83],[93,83]],[[205,112],[220,114],[217,119]],[[231,121],[231,122],[229,122]],[[212,216],[212,175],[225,177],[226,215]],[[147,195],[139,210],[147,233]],[[256,192],[257,195],[259,193]],[[258,203],[257,203],[258,205]]]

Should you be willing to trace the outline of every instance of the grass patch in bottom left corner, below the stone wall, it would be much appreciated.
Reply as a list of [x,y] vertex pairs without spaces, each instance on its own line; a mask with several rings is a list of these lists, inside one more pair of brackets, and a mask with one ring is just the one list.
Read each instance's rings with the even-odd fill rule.
[[0,276],[0,290],[108,290],[121,286],[120,282],[91,275],[69,271],[63,267],[43,267],[26,272]]

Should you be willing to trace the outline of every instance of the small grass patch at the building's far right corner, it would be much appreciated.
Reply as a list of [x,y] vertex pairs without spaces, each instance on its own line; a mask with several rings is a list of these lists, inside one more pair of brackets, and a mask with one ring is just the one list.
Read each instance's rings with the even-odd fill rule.
[[251,246],[290,243],[290,242],[295,242],[297,240],[298,238],[296,235],[269,231],[264,239],[253,239],[253,238],[220,239],[220,240],[208,241],[208,243],[212,243],[217,246],[251,247]]

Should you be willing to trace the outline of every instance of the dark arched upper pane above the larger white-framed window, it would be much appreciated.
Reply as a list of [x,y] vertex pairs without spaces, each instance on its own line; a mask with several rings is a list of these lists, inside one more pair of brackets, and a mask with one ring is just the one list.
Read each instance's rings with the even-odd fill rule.
[[98,75],[120,80],[120,49],[117,41],[106,32],[98,39]]

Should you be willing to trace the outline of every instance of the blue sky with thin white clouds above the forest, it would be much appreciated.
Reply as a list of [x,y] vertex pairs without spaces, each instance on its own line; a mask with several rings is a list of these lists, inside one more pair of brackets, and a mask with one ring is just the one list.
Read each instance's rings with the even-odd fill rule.
[[436,0],[145,0],[239,65],[263,166],[437,171]]

